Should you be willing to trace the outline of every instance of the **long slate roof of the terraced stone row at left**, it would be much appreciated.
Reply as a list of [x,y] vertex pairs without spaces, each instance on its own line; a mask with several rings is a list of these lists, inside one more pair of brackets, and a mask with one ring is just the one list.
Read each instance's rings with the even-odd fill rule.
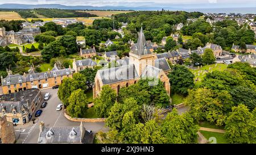
[[42,73],[34,73],[34,74],[26,74],[26,76],[21,76],[19,74],[10,75],[3,79],[3,86],[14,85],[22,82],[30,82],[39,79],[46,79],[51,77],[59,77],[72,74],[72,70],[69,68],[59,69],[59,70],[51,70],[49,72]]

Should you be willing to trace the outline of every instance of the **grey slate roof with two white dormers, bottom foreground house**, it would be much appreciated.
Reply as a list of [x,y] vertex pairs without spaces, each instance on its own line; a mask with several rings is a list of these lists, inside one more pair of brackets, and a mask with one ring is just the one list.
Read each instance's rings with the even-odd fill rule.
[[[84,127],[82,128],[87,132]],[[71,137],[72,134],[75,136]],[[82,143],[83,140],[80,127],[44,127],[39,134],[38,143]]]

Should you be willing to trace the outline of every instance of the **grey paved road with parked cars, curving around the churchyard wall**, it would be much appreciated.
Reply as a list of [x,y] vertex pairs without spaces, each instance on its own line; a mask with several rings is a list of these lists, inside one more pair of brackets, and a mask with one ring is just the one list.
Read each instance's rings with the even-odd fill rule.
[[[71,122],[66,119],[62,111],[56,111],[57,104],[61,103],[60,99],[57,97],[57,89],[42,90],[42,95],[44,96],[47,92],[50,93],[51,97],[47,101],[48,104],[46,108],[42,108],[43,112],[41,116],[36,119],[35,124],[31,121],[26,125],[18,125],[15,127],[15,135],[18,137],[17,143],[37,143],[39,123],[41,121],[44,122],[46,127],[76,127],[80,125],[79,122]],[[40,106],[38,106],[38,109],[39,108]],[[104,122],[83,123],[83,125],[85,129],[90,129],[93,133],[98,131],[108,131]]]

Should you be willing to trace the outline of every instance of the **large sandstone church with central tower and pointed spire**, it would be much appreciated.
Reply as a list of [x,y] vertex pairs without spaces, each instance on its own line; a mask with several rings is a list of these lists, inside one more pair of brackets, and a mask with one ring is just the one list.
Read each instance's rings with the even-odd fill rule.
[[93,98],[98,97],[104,85],[109,85],[118,94],[121,87],[133,85],[142,78],[159,78],[170,95],[170,82],[165,73],[170,70],[170,66],[165,58],[158,59],[155,53],[147,48],[142,28],[139,32],[138,43],[129,53],[129,61],[120,62],[122,62],[121,66],[98,70],[94,79]]

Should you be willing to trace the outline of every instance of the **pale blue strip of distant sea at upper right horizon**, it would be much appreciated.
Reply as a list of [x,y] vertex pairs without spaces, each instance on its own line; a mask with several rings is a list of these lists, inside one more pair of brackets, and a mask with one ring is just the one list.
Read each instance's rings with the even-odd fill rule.
[[[170,9],[176,11],[175,9]],[[203,13],[241,13],[241,14],[256,14],[256,7],[236,7],[236,8],[205,8],[205,9],[177,9],[183,11],[199,11]]]

